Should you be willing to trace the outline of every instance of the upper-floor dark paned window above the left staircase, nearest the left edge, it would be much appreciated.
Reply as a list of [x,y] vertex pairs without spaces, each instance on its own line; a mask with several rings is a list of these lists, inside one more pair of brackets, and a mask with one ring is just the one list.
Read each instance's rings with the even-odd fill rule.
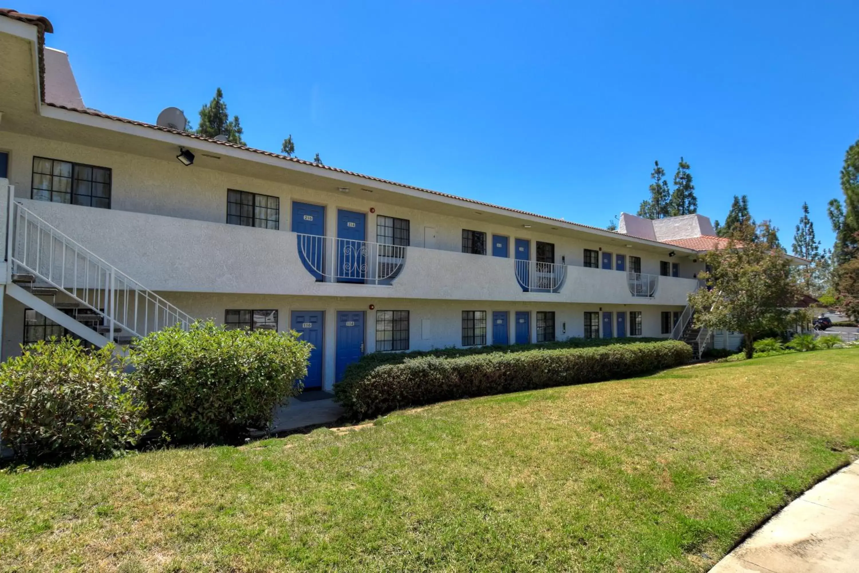
[[111,170],[108,168],[33,158],[31,198],[110,209],[110,194]]

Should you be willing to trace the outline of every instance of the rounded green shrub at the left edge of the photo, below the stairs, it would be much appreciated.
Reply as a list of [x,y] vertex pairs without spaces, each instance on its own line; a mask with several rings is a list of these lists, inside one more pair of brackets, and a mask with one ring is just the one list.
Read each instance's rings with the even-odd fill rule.
[[34,462],[106,457],[149,429],[113,344],[88,350],[74,338],[23,348],[0,365],[0,440]]

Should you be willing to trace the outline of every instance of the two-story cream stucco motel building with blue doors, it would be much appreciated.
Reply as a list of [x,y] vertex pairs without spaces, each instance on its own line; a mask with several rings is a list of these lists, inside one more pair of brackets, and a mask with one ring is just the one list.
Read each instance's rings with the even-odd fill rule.
[[[212,318],[301,332],[306,387],[330,388],[367,352],[668,337],[698,288],[702,249],[637,217],[611,232],[90,110],[51,32],[0,12],[3,357]],[[680,219],[662,236],[712,234]]]

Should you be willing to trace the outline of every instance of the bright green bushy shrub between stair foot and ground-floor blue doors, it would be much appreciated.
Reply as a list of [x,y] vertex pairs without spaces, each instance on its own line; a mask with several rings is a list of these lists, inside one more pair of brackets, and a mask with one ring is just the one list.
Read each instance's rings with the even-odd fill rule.
[[310,344],[295,332],[198,322],[137,340],[132,378],[155,430],[177,442],[225,442],[266,430],[275,406],[301,392]]

